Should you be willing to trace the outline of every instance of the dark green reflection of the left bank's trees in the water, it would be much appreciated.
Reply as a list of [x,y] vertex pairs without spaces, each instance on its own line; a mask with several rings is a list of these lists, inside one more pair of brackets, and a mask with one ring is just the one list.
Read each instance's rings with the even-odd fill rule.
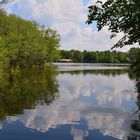
[[57,96],[58,82],[52,68],[1,72],[0,119],[37,104],[50,104]]

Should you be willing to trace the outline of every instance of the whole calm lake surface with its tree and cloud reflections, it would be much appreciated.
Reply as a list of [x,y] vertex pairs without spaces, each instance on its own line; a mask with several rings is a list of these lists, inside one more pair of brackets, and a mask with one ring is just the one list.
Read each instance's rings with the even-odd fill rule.
[[1,140],[140,139],[128,65],[54,65],[1,72]]

